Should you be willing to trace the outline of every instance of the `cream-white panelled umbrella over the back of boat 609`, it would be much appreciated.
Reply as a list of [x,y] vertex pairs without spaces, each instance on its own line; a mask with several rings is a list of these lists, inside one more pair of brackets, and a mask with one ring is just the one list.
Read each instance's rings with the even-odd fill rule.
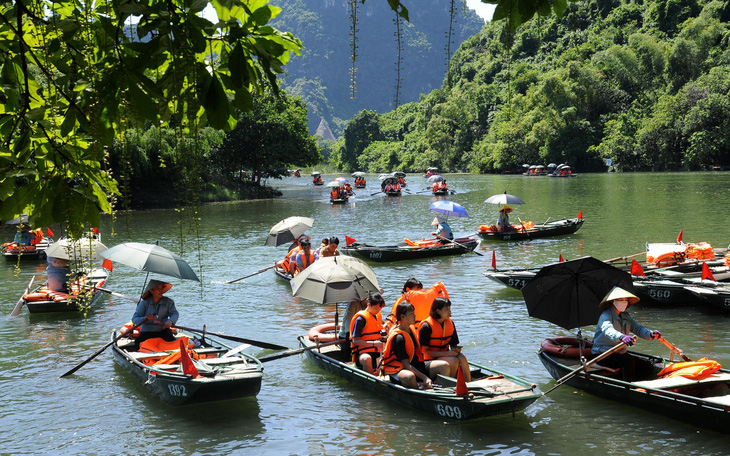
[[365,299],[379,293],[375,272],[364,261],[349,256],[325,257],[291,280],[294,296],[321,304]]

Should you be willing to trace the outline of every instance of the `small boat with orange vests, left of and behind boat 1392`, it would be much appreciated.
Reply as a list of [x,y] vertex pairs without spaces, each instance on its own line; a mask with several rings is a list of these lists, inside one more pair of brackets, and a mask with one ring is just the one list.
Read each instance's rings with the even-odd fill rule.
[[80,311],[94,305],[105,294],[96,287],[103,287],[108,276],[106,269],[94,268],[72,280],[69,293],[51,291],[46,282],[23,295],[23,303],[30,313]]

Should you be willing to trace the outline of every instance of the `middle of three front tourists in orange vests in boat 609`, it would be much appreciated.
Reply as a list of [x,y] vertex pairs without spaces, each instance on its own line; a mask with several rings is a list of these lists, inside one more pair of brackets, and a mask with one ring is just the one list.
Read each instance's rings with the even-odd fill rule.
[[399,382],[406,388],[418,388],[418,380],[423,389],[433,388],[432,378],[438,374],[448,375],[449,364],[442,360],[431,361],[430,368],[423,361],[423,353],[418,343],[413,325],[416,324],[416,310],[413,305],[402,302],[395,309],[398,321],[388,336],[383,350],[383,372],[390,375],[391,381]]

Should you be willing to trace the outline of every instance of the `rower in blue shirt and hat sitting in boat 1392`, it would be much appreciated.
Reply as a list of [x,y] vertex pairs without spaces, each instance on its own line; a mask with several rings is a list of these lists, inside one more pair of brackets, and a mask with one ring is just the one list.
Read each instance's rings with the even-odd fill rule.
[[132,323],[138,325],[139,336],[134,340],[135,350],[147,339],[160,337],[165,342],[175,342],[172,326],[177,323],[180,314],[175,308],[175,301],[162,296],[170,291],[172,285],[161,280],[152,279],[142,293],[142,299],[132,315]]

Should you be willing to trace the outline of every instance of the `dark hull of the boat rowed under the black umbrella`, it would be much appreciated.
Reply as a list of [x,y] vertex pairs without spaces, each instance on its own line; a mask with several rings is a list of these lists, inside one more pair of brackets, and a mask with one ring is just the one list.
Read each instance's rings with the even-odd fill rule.
[[[642,355],[640,353],[632,352],[632,354],[651,361],[661,360],[661,358]],[[578,364],[564,364],[565,360],[569,358],[550,355],[543,350],[540,350],[539,357],[550,375],[556,380],[578,367]],[[573,361],[575,362],[575,360]],[[727,390],[727,394],[730,394],[730,388],[728,387],[728,383],[730,383],[730,371],[721,369],[721,371],[713,375],[716,376],[715,378],[718,381],[705,383],[705,385],[707,387],[720,385],[714,387]],[[594,396],[622,402],[657,413],[660,415],[660,420],[664,417],[670,417],[723,433],[730,433],[730,395],[717,396],[713,401],[708,400],[708,398],[698,398],[683,394],[681,390],[680,392],[672,391],[678,388],[652,388],[649,386],[651,383],[653,382],[624,382],[607,375],[601,375],[600,370],[595,373],[589,371],[587,374],[579,371],[578,374],[566,381],[567,385]],[[683,388],[691,388],[693,386],[697,388],[700,385],[703,385],[703,383],[688,383]]]

